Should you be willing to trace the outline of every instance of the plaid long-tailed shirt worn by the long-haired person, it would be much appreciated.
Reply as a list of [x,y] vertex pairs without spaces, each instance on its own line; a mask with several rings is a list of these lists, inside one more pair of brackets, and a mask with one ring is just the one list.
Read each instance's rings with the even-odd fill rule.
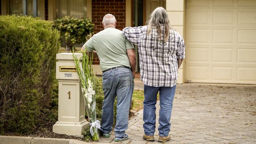
[[[138,45],[141,80],[152,87],[173,87],[178,79],[177,59],[185,58],[185,44],[182,36],[170,30],[169,39],[158,38],[156,29],[147,34],[148,26],[126,27],[123,34]],[[164,27],[161,26],[161,30]]]

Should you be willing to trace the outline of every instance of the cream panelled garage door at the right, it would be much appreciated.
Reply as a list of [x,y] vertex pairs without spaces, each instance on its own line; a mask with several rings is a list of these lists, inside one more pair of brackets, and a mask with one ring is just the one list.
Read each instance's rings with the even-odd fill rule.
[[186,1],[186,82],[256,84],[256,0]]

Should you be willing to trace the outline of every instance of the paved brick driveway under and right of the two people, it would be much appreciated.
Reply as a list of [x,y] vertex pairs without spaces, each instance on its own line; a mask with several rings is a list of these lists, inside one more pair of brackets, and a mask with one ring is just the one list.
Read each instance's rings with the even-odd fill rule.
[[[157,115],[158,111],[159,103]],[[155,142],[143,140],[142,117],[143,110],[129,120],[129,139],[121,143],[158,143],[158,123]],[[256,144],[256,86],[177,85],[171,124],[171,141],[166,144]],[[100,142],[118,143],[113,138],[101,137]]]

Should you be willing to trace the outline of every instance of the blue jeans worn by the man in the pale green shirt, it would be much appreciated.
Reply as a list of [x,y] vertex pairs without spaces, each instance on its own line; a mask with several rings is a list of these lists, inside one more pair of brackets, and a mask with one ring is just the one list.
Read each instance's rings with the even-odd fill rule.
[[102,75],[104,101],[102,106],[102,133],[108,134],[113,126],[113,111],[117,95],[115,136],[123,137],[128,128],[129,109],[134,91],[132,71],[128,68],[109,70]]

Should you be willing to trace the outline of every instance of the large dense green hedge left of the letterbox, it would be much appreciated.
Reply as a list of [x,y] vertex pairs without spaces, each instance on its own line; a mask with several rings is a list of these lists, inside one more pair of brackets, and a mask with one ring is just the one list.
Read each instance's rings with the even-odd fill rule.
[[32,131],[50,107],[59,31],[40,18],[0,16],[0,133]]

